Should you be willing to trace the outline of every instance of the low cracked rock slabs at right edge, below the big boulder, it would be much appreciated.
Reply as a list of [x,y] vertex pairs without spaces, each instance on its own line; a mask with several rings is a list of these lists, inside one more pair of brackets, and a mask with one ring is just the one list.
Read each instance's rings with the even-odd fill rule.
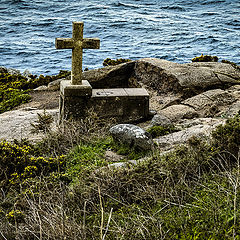
[[240,85],[213,89],[158,111],[173,122],[195,117],[232,117],[240,110]]

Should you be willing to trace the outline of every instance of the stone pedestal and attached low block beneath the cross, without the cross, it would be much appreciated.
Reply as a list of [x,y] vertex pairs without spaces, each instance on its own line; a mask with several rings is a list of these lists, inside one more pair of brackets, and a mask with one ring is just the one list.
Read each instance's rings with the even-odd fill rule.
[[134,122],[149,115],[149,94],[144,88],[92,89],[88,81],[83,85],[60,85],[60,121],[81,119],[89,110],[99,118],[115,118],[119,122]]

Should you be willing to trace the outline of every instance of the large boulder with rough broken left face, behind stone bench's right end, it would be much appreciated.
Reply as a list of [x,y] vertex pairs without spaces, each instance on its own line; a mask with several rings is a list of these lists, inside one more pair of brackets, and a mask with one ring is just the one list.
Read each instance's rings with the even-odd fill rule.
[[240,71],[227,63],[197,62],[179,64],[144,58],[135,64],[138,81],[159,92],[179,92],[183,88],[206,89],[216,85],[238,84]]

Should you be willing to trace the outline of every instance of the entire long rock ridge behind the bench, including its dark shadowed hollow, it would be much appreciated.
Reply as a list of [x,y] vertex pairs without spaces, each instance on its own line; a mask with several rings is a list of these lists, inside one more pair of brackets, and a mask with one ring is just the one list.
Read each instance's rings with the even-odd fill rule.
[[[6,69],[2,68],[2,71]],[[15,70],[16,71],[16,70]],[[0,69],[1,72],[1,69]],[[229,63],[194,62],[179,64],[157,58],[143,58],[99,69],[84,71],[84,80],[93,88],[141,87],[158,94],[186,91],[203,92],[212,88],[226,88],[240,84],[240,70]],[[59,88],[59,81],[46,90]],[[194,95],[194,92],[191,92]]]

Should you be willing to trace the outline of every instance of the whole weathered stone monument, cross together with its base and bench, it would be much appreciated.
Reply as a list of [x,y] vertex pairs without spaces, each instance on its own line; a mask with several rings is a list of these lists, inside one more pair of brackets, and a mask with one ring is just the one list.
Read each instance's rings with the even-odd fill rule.
[[99,49],[100,40],[83,38],[83,22],[73,22],[72,38],[56,38],[57,49],[72,49],[71,81],[60,84],[60,121],[87,116],[89,109],[99,117],[122,122],[144,119],[149,114],[149,95],[144,88],[92,89],[82,79],[82,50]]

